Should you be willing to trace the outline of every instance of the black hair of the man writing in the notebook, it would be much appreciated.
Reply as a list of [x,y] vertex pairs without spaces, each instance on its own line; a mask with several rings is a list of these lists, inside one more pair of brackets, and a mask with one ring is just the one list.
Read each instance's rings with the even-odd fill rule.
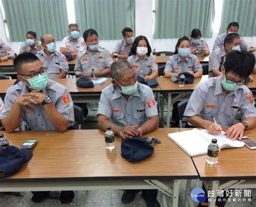
[[247,51],[231,51],[224,62],[225,72],[232,72],[241,78],[252,74],[255,64],[254,55]]

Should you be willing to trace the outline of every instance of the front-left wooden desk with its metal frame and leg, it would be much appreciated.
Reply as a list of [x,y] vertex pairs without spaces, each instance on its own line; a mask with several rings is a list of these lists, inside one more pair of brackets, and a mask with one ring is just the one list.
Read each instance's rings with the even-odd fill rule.
[[[161,144],[144,161],[129,163],[120,155],[120,138],[114,151],[106,151],[104,132],[100,130],[19,131],[3,134],[10,145],[20,146],[36,139],[32,159],[22,169],[0,179],[0,191],[159,189],[161,206],[167,206],[165,194],[173,194],[178,206],[179,180],[197,179],[193,162],[179,146],[167,137],[178,128],[157,129]],[[171,189],[173,187],[173,189]]]

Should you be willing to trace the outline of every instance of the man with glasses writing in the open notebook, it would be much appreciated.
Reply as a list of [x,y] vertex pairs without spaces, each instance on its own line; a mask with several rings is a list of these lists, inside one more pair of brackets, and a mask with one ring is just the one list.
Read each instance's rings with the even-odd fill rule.
[[[241,139],[244,130],[256,127],[254,97],[245,84],[254,67],[250,52],[232,51],[227,55],[223,75],[201,83],[192,93],[184,116],[194,126],[204,127],[210,134],[220,133],[222,127],[228,138]],[[234,124],[241,112],[241,123]],[[213,122],[213,117],[217,123]]]

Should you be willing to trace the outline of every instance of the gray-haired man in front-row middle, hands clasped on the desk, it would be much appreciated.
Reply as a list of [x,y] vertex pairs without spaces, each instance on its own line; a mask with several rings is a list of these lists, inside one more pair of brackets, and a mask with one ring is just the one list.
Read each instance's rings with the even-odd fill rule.
[[[141,137],[159,125],[157,103],[150,87],[137,82],[136,73],[127,60],[111,66],[112,84],[102,91],[98,108],[99,129],[111,126],[120,138]],[[137,190],[125,190],[122,202],[131,203]],[[147,206],[160,206],[157,190],[142,190]]]

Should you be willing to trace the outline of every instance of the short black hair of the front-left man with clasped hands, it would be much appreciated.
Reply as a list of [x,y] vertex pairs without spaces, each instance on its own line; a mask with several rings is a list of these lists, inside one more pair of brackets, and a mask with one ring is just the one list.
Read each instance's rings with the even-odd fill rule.
[[38,57],[31,52],[24,52],[17,55],[17,57],[14,59],[14,68],[17,74],[21,74],[21,68],[23,63],[34,62],[37,60],[39,60]]

